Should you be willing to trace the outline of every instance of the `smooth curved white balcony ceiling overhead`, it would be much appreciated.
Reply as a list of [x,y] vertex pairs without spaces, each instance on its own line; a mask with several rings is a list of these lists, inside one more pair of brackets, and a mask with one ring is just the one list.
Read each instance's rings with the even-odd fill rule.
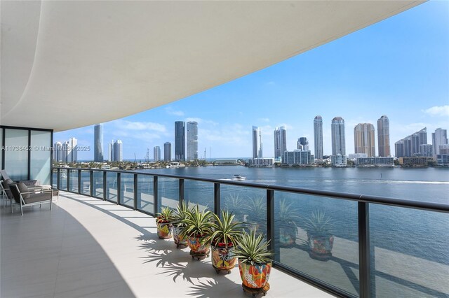
[[422,1],[1,1],[1,125],[61,131],[168,104]]

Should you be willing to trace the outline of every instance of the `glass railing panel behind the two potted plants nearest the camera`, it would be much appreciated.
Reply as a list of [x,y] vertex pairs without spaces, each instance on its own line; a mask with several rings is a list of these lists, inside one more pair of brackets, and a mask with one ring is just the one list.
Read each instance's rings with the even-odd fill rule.
[[221,208],[236,215],[246,227],[267,234],[267,191],[253,187],[221,185]]

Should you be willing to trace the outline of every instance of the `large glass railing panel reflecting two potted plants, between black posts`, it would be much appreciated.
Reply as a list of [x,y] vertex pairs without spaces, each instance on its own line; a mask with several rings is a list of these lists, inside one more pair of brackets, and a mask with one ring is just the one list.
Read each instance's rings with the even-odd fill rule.
[[275,260],[358,296],[357,202],[274,193]]

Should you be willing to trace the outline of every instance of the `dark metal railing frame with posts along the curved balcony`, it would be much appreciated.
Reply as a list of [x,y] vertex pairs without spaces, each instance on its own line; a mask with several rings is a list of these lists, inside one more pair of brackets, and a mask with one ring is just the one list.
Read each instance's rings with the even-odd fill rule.
[[[58,171],[58,189],[60,188],[60,169],[62,168],[53,168],[53,171],[57,169]],[[70,170],[77,169],[78,177],[81,176],[80,168],[63,168],[67,169],[67,192],[70,192],[69,188],[69,178],[70,178]],[[344,199],[348,201],[357,201],[358,202],[358,258],[359,258],[359,287],[360,292],[359,295],[361,298],[368,298],[375,295],[375,286],[373,285],[373,280],[375,278],[371,278],[371,272],[373,272],[373,262],[371,261],[371,252],[370,252],[370,227],[369,227],[369,206],[370,204],[381,204],[387,206],[396,206],[402,208],[413,208],[424,211],[436,211],[441,213],[449,213],[449,205],[446,204],[438,204],[438,203],[429,203],[424,201],[410,201],[403,199],[393,199],[387,197],[375,197],[361,194],[347,194],[342,192],[330,192],[323,190],[311,190],[307,188],[300,187],[287,187],[287,186],[279,186],[279,185],[264,185],[260,183],[246,183],[246,182],[235,182],[230,180],[218,180],[212,178],[199,178],[192,176],[175,176],[169,174],[161,174],[161,173],[145,173],[145,172],[131,172],[134,173],[134,206],[127,206],[121,204],[121,173],[130,173],[130,171],[117,171],[117,170],[101,170],[101,169],[89,169],[90,180],[91,180],[91,197],[93,197],[93,172],[94,171],[102,171],[103,172],[103,200],[107,200],[106,188],[107,188],[107,172],[116,173],[117,175],[117,202],[116,204],[123,205],[127,208],[133,208],[134,210],[140,211],[142,213],[146,213],[148,215],[155,216],[159,211],[159,191],[158,191],[158,181],[159,177],[165,178],[176,178],[179,180],[179,201],[185,199],[184,197],[184,186],[185,180],[196,180],[202,182],[213,183],[214,185],[214,212],[215,214],[220,216],[220,185],[236,185],[243,187],[253,187],[267,190],[267,239],[270,241],[269,249],[272,250],[275,256],[279,256],[279,247],[274,247],[274,235],[275,225],[274,225],[274,193],[275,191],[281,192],[293,192],[296,194],[311,194],[314,196],[320,197],[329,197],[333,199]],[[138,175],[152,176],[153,177],[153,198],[154,198],[154,211],[153,213],[149,213],[147,211],[143,211],[138,208]],[[79,178],[79,181],[81,178]],[[80,192],[79,187],[79,193]],[[86,195],[86,194],[84,194]],[[109,200],[108,200],[109,201]],[[313,276],[308,276],[296,269],[286,266],[279,262],[279,260],[274,260],[274,267],[280,269],[281,271],[285,271],[288,274],[292,274],[293,276],[300,278],[302,281],[314,285],[315,287],[328,292],[332,295],[340,296],[340,297],[354,297],[348,292],[344,292],[339,288],[335,288],[332,285],[328,285],[314,278]]]

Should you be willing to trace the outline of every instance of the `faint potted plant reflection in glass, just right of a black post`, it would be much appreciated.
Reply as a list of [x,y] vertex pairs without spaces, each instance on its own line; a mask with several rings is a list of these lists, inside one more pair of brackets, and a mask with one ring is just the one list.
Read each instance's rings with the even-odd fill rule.
[[285,199],[279,202],[279,210],[276,212],[276,224],[279,227],[279,246],[290,248],[296,243],[297,220],[300,219],[298,208],[293,202],[287,203]]

